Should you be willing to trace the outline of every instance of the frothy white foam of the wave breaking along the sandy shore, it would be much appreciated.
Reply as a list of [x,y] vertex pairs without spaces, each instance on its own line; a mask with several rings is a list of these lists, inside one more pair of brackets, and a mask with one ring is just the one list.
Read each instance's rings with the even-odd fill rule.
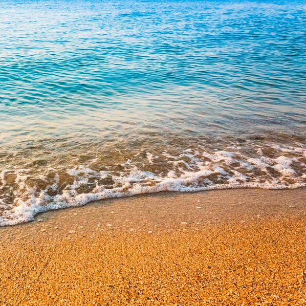
[[[170,170],[160,173],[140,169],[132,159],[121,164],[121,171],[112,171],[110,168],[109,171],[96,171],[84,165],[71,167],[66,169],[66,175],[73,182],[62,190],[60,174],[54,168],[46,169],[45,175],[37,175],[36,179],[48,183],[42,190],[37,190],[28,183],[31,175],[27,169],[19,169],[14,172],[16,178],[13,183],[18,186],[13,192],[14,202],[8,202],[4,197],[5,193],[0,198],[0,225],[30,221],[36,214],[47,210],[144,193],[244,187],[292,189],[306,186],[306,149],[274,145],[253,148],[250,154],[242,154],[239,149],[235,149],[237,151],[231,152],[188,149],[177,156],[164,152],[157,158],[147,152],[149,165],[153,165],[154,161],[157,163],[159,158],[165,158]],[[263,149],[274,150],[276,156],[265,155]],[[0,172],[0,190],[10,185],[6,177],[11,172]],[[53,174],[51,179],[48,178],[50,174]],[[103,183],[105,179],[111,183]],[[54,195],[55,192],[57,194]]]

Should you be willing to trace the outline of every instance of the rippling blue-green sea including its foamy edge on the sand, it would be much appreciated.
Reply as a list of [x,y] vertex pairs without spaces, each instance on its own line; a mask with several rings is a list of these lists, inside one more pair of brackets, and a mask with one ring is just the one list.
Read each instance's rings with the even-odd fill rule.
[[0,225],[303,186],[305,1],[0,1]]

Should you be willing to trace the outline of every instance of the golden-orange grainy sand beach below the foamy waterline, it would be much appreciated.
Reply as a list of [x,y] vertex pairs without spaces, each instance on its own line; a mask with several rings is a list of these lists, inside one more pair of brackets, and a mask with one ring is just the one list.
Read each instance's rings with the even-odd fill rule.
[[0,254],[1,306],[306,305],[306,189],[47,212],[0,228]]

